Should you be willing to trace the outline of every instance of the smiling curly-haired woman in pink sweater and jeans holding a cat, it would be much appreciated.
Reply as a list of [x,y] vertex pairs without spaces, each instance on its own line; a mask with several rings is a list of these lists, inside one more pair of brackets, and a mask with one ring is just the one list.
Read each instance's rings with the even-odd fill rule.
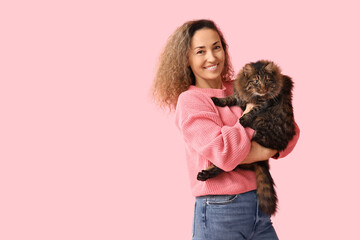
[[[295,147],[299,129],[280,153],[251,142],[254,131],[239,123],[242,110],[217,107],[211,100],[232,94],[233,73],[226,41],[215,23],[189,21],[165,46],[154,96],[161,106],[175,109],[176,125],[186,143],[191,190],[196,197],[193,239],[278,239],[270,216],[258,208],[254,172],[233,169],[238,164],[285,157]],[[225,172],[198,181],[197,173],[212,163]]]

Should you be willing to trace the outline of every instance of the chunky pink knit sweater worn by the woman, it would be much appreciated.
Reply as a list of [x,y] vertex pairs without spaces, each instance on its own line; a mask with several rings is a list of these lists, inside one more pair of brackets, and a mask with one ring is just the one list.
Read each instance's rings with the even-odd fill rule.
[[[254,130],[239,123],[243,111],[238,106],[217,107],[211,97],[232,94],[233,82],[223,83],[222,89],[190,88],[181,93],[175,112],[175,122],[185,140],[186,160],[194,196],[239,194],[256,189],[253,171],[233,169],[250,151]],[[279,158],[288,155],[299,138],[299,128]],[[225,173],[205,182],[196,179],[199,171],[211,163]]]

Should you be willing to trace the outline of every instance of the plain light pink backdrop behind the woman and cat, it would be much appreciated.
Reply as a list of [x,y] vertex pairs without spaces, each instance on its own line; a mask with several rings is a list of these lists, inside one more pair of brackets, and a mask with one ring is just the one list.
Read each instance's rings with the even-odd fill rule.
[[334,2],[2,1],[0,239],[191,238],[183,142],[150,86],[198,18],[236,71],[272,59],[295,81],[300,141],[272,162],[280,239],[360,239],[360,8]]

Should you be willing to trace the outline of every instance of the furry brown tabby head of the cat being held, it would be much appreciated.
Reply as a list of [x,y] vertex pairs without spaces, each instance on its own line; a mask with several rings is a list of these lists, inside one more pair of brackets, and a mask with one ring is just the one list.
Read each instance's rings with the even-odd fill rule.
[[282,85],[280,68],[264,60],[246,64],[235,82],[236,89],[247,100],[272,99],[280,93]]

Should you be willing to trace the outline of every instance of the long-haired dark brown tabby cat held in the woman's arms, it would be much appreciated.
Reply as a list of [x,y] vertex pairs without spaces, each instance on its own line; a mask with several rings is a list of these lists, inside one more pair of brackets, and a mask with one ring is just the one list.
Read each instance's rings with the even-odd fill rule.
[[[234,81],[232,96],[212,100],[217,106],[238,105],[243,110],[246,104],[253,103],[255,106],[240,118],[241,125],[255,130],[252,141],[282,151],[295,135],[292,88],[291,78],[282,75],[274,62],[260,60],[246,64],[239,72]],[[255,171],[259,207],[266,214],[274,214],[277,195],[269,171],[269,160],[240,164],[238,168]],[[199,172],[198,180],[205,181],[221,172],[223,170],[212,165]]]

